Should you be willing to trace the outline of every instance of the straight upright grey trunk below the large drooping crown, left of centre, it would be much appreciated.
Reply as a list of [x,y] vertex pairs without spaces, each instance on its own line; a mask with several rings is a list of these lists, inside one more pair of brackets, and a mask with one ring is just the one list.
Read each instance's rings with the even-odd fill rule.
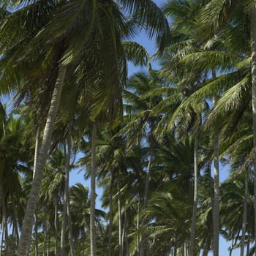
[[90,206],[90,241],[91,256],[96,256],[95,200],[96,200],[96,140],[97,123],[94,121],[91,132],[91,206]]

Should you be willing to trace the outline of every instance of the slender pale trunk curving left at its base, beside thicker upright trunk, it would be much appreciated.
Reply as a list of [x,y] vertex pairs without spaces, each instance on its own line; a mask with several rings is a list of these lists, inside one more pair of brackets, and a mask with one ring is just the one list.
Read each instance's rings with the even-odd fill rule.
[[198,132],[195,132],[195,145],[194,145],[194,202],[192,211],[191,233],[189,240],[189,256],[193,255],[195,245],[195,223],[197,220],[197,200],[198,200]]

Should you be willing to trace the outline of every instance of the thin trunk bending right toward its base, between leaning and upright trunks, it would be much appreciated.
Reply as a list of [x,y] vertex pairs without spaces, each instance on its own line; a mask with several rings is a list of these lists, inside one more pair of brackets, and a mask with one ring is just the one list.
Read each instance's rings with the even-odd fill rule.
[[70,215],[70,205],[69,205],[69,170],[70,170],[70,155],[71,155],[71,135],[70,130],[67,135],[67,158],[66,158],[66,179],[67,179],[67,187],[65,187],[65,193],[67,198],[67,223],[69,227],[69,244],[70,244],[70,252],[71,256],[75,256],[75,248],[72,234],[72,222]]

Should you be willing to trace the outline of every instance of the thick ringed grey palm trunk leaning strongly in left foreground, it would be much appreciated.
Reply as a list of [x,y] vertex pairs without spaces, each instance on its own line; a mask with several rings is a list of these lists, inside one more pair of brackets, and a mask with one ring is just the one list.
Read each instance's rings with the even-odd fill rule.
[[61,98],[61,91],[64,85],[64,78],[66,75],[67,67],[61,66],[59,68],[59,75],[56,80],[56,85],[53,90],[53,96],[50,102],[50,109],[45,124],[45,130],[42,137],[42,142],[38,154],[37,165],[34,173],[34,180],[32,183],[31,191],[29,194],[29,200],[26,206],[25,217],[23,219],[23,225],[21,230],[20,242],[18,245],[18,255],[25,256],[29,248],[31,230],[34,212],[37,207],[37,197],[39,195],[39,189],[42,181],[42,175],[45,168],[46,158],[48,150],[50,148],[51,135],[53,133],[53,127],[56,119],[56,115],[59,109],[59,100]]

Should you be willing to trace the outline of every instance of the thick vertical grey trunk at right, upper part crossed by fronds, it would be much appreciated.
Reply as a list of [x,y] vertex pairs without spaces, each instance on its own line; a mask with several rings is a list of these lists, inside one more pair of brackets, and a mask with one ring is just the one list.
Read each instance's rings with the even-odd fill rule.
[[[216,77],[213,71],[213,78]],[[216,105],[216,98],[213,98],[213,105]],[[219,132],[214,129],[214,206],[213,206],[213,227],[214,227],[214,256],[219,256]]]

